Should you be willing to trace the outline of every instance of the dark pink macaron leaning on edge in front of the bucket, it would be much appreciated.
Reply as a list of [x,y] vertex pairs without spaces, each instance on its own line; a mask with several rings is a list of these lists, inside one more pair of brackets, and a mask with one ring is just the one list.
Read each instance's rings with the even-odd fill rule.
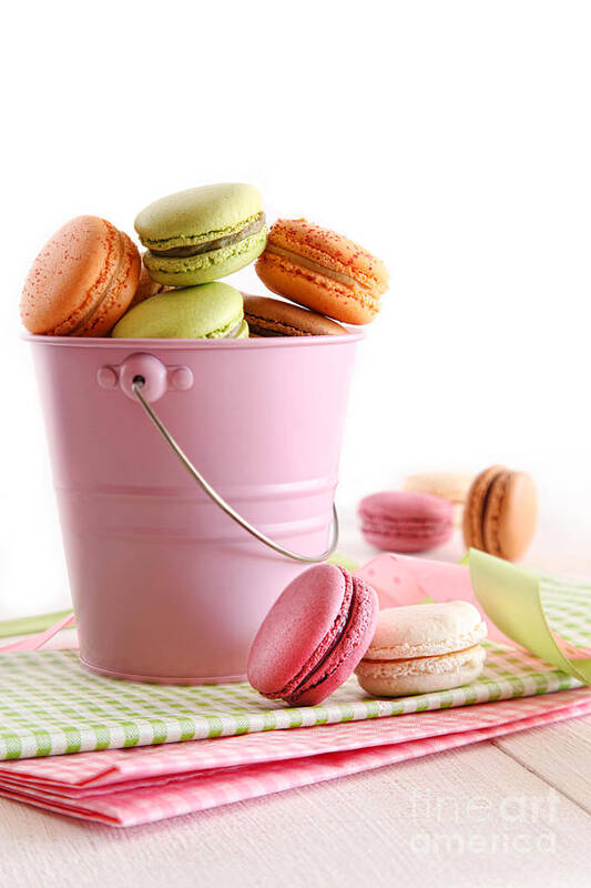
[[253,642],[248,680],[268,699],[322,703],[351,675],[376,627],[377,595],[342,567],[299,574],[275,602]]

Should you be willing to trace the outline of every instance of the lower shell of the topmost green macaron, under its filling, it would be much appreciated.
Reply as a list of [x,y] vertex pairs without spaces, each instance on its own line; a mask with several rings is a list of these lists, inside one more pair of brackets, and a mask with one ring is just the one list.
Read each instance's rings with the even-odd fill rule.
[[237,243],[196,256],[159,256],[147,252],[144,264],[152,280],[169,286],[194,286],[217,281],[245,268],[265,249],[267,228]]

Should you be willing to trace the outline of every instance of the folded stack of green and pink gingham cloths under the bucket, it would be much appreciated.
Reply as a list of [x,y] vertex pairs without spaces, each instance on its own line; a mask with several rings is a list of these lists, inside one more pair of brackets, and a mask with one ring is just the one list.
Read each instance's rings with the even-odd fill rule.
[[[540,592],[561,649],[589,657],[591,584],[540,574]],[[514,648],[487,649],[485,675],[472,685],[371,700],[351,678],[322,706],[300,709],[247,685],[100,678],[72,650],[8,653],[0,656],[0,758],[20,760],[0,765],[0,795],[133,826],[591,713],[591,690],[572,675]],[[558,693],[540,696],[548,692]],[[502,702],[470,705],[491,700]]]

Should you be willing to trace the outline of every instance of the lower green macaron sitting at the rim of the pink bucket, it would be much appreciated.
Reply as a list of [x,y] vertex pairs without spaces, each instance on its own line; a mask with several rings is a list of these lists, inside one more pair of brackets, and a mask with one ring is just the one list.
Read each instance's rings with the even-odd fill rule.
[[245,339],[242,293],[218,281],[140,302],[116,324],[116,339]]

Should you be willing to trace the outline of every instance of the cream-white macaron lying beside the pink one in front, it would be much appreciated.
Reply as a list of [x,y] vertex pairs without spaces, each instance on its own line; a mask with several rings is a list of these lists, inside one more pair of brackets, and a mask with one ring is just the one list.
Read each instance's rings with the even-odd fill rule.
[[485,667],[487,627],[469,602],[381,610],[355,673],[373,697],[448,690],[475,682]]

